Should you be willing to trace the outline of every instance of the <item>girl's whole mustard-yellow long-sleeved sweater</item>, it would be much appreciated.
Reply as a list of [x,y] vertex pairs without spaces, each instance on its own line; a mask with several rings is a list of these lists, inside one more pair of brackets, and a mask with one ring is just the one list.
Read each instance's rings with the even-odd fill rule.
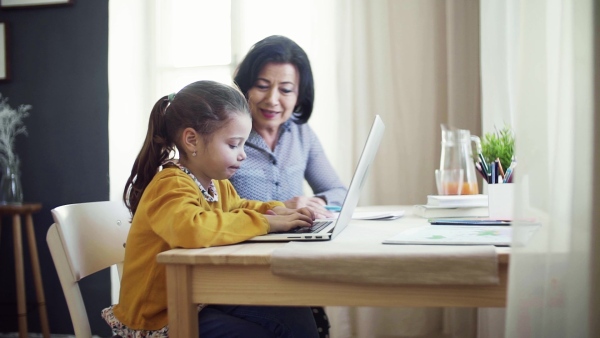
[[165,266],[156,255],[173,248],[242,242],[269,231],[263,214],[281,202],[240,198],[229,180],[213,181],[217,202],[207,202],[179,168],[165,168],[144,191],[131,223],[119,304],[113,311],[127,327],[158,330],[168,324]]

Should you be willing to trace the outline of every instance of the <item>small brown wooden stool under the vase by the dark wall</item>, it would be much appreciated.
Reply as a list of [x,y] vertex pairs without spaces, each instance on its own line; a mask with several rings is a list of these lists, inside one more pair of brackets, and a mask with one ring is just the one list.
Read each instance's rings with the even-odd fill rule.
[[19,321],[20,338],[26,338],[28,336],[27,305],[25,298],[25,269],[23,267],[23,241],[21,235],[21,216],[25,217],[25,230],[27,232],[27,239],[29,241],[29,255],[31,256],[31,268],[33,270],[33,281],[35,283],[35,291],[37,294],[38,310],[42,327],[42,333],[44,335],[44,338],[50,338],[50,327],[48,325],[48,315],[46,313],[46,299],[44,297],[44,288],[42,286],[42,274],[40,272],[37,242],[35,240],[35,231],[33,228],[33,217],[31,216],[34,212],[38,212],[41,209],[42,205],[39,203],[0,205],[0,217],[10,215],[12,216],[13,220],[13,245],[15,249],[15,277],[17,285],[17,315]]

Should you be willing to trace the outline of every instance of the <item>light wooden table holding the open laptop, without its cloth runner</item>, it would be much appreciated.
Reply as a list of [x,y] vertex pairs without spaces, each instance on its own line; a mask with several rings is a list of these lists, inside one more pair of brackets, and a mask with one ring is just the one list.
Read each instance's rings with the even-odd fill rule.
[[[411,207],[381,206],[363,210],[403,209],[396,221],[352,221],[335,241],[381,240],[426,220]],[[353,238],[361,229],[374,235]],[[198,337],[196,304],[505,307],[509,249],[497,248],[499,285],[373,285],[285,278],[270,270],[272,252],[285,243],[243,243],[208,249],[175,249],[158,255],[166,264],[169,336]]]

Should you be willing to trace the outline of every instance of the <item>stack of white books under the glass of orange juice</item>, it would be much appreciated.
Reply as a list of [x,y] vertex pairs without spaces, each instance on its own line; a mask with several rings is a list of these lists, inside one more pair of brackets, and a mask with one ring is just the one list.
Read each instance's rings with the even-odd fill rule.
[[415,205],[413,213],[424,218],[487,217],[487,195],[428,195],[427,204]]

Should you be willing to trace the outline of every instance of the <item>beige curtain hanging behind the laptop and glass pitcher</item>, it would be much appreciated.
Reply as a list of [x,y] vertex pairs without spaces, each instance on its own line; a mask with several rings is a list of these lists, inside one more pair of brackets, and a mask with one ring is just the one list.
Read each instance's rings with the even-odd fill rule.
[[[339,1],[341,130],[336,169],[349,180],[373,116],[386,133],[361,205],[423,204],[434,194],[445,123],[481,134],[479,5]],[[474,337],[475,309],[328,307],[332,337]]]

